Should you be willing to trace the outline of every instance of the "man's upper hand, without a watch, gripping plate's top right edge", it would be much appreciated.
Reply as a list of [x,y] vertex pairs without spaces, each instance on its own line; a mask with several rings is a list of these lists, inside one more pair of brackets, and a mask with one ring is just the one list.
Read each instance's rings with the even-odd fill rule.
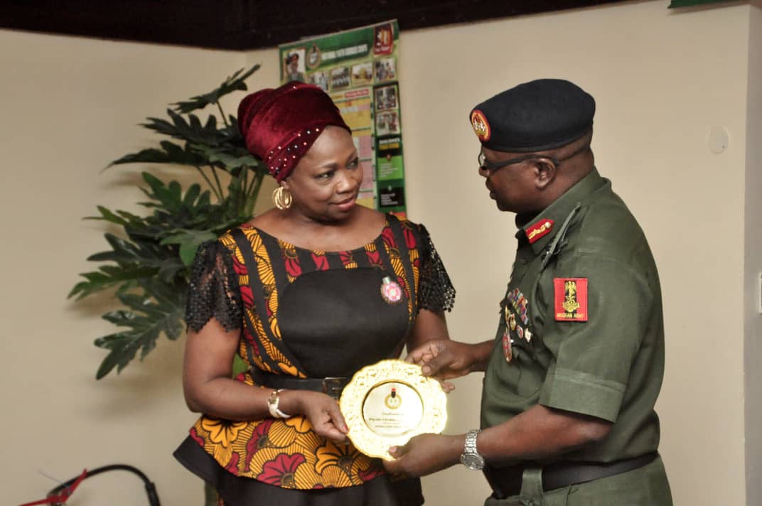
[[425,376],[434,376],[438,380],[449,380],[466,376],[474,370],[475,354],[473,347],[479,344],[459,343],[435,339],[426,341],[408,354],[405,361],[417,363]]

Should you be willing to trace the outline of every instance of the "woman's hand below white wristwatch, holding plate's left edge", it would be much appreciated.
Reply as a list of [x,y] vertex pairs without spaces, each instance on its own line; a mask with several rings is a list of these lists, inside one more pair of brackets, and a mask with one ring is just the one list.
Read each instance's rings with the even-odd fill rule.
[[335,443],[347,440],[347,422],[338,408],[338,402],[321,392],[309,390],[281,390],[280,409],[288,415],[304,415],[315,434]]

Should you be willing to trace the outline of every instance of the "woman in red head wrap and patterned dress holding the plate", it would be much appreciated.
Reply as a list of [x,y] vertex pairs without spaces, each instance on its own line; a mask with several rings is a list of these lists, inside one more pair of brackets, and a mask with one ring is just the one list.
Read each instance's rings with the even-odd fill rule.
[[[277,209],[197,255],[183,385],[204,415],[175,456],[229,505],[422,504],[417,479],[349,444],[336,399],[361,367],[449,338],[455,292],[426,229],[357,204],[351,130],[320,88],[250,94],[239,128]],[[236,352],[251,370],[232,379]]]

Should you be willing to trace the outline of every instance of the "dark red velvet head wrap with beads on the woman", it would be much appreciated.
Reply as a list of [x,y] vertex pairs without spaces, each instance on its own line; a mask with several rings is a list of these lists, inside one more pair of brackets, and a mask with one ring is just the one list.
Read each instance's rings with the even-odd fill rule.
[[325,91],[296,81],[249,94],[239,105],[238,120],[246,147],[277,181],[290,175],[328,125],[352,133]]

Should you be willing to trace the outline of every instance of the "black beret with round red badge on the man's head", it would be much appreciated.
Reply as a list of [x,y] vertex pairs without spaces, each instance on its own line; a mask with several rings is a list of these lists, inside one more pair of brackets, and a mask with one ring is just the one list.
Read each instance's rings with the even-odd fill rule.
[[535,152],[565,146],[590,131],[595,100],[563,79],[537,79],[496,94],[471,110],[483,146]]

